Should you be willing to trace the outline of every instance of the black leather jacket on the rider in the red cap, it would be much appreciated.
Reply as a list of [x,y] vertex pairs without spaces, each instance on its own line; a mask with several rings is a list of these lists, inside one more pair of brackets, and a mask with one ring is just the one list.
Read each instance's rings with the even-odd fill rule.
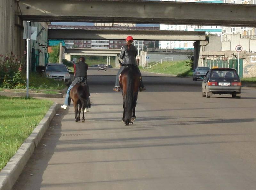
[[122,65],[138,65],[136,61],[137,48],[131,44],[130,49],[128,46],[122,46],[120,58],[123,59]]

